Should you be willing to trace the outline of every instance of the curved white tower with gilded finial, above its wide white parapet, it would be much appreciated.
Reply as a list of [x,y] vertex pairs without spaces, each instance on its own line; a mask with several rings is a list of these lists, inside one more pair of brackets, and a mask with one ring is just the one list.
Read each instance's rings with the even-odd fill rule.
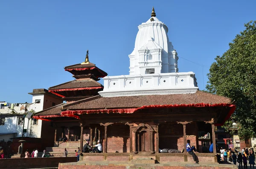
[[130,74],[178,72],[177,52],[169,41],[168,28],[157,19],[152,9],[151,18],[138,26],[134,51],[130,57]]

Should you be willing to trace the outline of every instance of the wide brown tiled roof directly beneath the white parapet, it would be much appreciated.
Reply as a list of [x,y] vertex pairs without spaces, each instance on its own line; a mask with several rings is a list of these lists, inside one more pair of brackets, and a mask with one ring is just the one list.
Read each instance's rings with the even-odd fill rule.
[[181,105],[196,103],[231,103],[231,100],[227,97],[212,95],[202,91],[197,91],[190,94],[172,95],[139,95],[121,97],[94,96],[67,104],[64,106],[64,109],[126,109],[150,105]]

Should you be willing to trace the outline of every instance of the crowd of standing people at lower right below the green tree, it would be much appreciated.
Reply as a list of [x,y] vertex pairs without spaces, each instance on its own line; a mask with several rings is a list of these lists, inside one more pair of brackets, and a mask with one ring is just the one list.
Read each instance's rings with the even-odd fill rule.
[[244,169],[247,169],[247,163],[250,164],[250,168],[255,165],[255,153],[253,148],[247,149],[243,148],[241,152],[238,152],[236,149],[220,149],[221,160],[225,162],[233,162],[236,165],[236,162],[239,163],[239,168],[244,166]]

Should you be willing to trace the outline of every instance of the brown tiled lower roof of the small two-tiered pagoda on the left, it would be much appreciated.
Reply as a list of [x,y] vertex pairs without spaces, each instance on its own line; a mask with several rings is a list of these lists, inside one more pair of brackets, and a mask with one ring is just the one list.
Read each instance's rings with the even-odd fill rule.
[[72,88],[84,88],[84,87],[98,87],[102,86],[99,82],[88,79],[88,80],[72,80],[66,83],[59,84],[57,86],[49,87],[49,90],[56,90],[56,89],[72,89]]

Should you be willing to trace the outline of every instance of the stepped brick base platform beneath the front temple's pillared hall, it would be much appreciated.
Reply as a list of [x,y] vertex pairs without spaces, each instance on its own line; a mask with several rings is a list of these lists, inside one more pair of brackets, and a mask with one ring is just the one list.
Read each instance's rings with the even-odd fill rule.
[[59,163],[58,169],[237,169],[219,164],[213,153],[197,153],[199,164],[185,153],[84,153],[76,163]]

